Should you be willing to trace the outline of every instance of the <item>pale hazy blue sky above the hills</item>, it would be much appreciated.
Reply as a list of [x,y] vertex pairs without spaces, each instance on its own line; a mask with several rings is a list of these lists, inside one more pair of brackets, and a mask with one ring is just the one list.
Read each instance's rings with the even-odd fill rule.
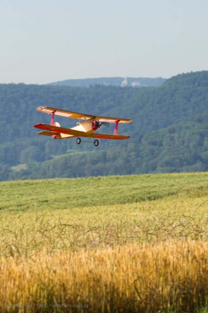
[[0,83],[208,70],[208,0],[1,0]]

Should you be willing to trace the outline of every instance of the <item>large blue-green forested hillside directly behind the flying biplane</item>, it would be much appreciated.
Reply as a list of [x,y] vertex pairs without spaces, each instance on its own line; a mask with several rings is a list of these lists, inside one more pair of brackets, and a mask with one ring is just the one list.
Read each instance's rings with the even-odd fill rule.
[[[75,112],[132,118],[119,125],[130,139],[76,144],[38,136],[36,123],[50,106]],[[76,120],[56,119],[63,127]],[[208,71],[177,75],[159,87],[73,88],[0,85],[0,180],[207,171]],[[113,132],[113,125],[101,127]],[[58,158],[58,159],[57,159]],[[59,165],[58,165],[59,164]],[[62,164],[62,165],[60,165]]]

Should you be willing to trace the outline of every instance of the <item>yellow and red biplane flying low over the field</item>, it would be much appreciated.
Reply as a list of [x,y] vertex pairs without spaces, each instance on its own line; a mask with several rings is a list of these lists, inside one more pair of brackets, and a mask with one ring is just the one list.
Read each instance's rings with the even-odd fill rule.
[[[132,119],[127,118],[114,118],[114,117],[104,117],[89,114],[82,114],[76,112],[69,112],[65,110],[50,108],[50,107],[38,107],[36,109],[39,112],[44,112],[47,114],[52,114],[51,123],[48,124],[35,124],[34,127],[41,129],[42,131],[37,133],[45,136],[52,136],[54,139],[63,138],[73,138],[76,137],[76,143],[80,144],[80,137],[88,138],[103,138],[103,139],[127,139],[130,136],[118,135],[117,128],[118,123],[124,124],[132,122]],[[60,127],[58,122],[54,123],[54,116],[64,116],[69,118],[75,118],[79,121],[73,128],[63,128]],[[103,123],[115,123],[115,128],[113,134],[98,134],[95,131],[100,128]],[[84,141],[84,140],[82,140]],[[94,140],[94,145],[98,146],[99,141]]]

